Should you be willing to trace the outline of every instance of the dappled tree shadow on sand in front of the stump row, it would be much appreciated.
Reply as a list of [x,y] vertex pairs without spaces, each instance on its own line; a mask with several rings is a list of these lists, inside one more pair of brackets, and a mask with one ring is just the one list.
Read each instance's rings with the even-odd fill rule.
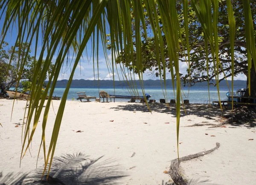
[[[200,117],[205,117],[207,119],[211,119],[211,116],[220,116],[222,111],[219,108],[212,107],[209,109],[209,104],[186,104],[184,105],[186,113],[183,109],[183,106],[180,105],[180,116],[186,115],[195,115]],[[149,108],[152,112],[157,113],[167,113],[176,116],[176,106],[171,104],[169,107],[163,103],[150,103]],[[133,103],[133,104],[124,104],[118,105],[117,107],[113,107],[111,109],[115,110],[129,110],[129,111],[141,111],[141,112],[149,112],[148,107],[145,103]]]

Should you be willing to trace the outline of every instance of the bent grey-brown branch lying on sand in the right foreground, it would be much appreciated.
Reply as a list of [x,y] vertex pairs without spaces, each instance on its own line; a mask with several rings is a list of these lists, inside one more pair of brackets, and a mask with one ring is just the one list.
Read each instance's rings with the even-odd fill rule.
[[[204,151],[204,152],[199,152],[199,153],[196,153],[196,154],[193,154],[193,155],[182,157],[182,158],[180,158],[180,162],[188,161],[188,160],[195,159],[197,157],[201,157],[201,156],[204,156],[206,154],[212,153],[214,150],[217,150],[219,147],[220,147],[220,144],[216,143],[216,147],[212,148],[211,150],[207,150],[207,151]],[[175,183],[173,185],[188,185],[184,181],[184,179],[180,176],[180,173],[179,173],[180,162],[179,162],[178,158],[172,160],[169,174],[172,177],[173,182]]]

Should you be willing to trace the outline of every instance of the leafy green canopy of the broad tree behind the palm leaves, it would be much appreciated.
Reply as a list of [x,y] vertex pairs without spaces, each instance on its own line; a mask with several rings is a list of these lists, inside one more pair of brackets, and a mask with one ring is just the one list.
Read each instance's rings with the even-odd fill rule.
[[[233,14],[234,19],[236,21],[236,35],[235,35],[235,43],[234,43],[234,75],[238,74],[244,74],[248,77],[248,66],[247,66],[247,49],[246,49],[246,42],[245,42],[245,24],[244,24],[244,17],[243,17],[243,3],[242,0],[239,1],[231,1],[233,6]],[[256,3],[256,2],[252,2]],[[181,9],[181,2],[177,1],[176,4],[177,13],[178,13],[178,21],[180,24],[181,29],[181,36],[182,38],[186,37],[185,33],[185,27],[184,27],[184,15],[183,15],[183,9]],[[198,20],[197,15],[195,14],[194,9],[192,7],[189,7],[188,14],[189,14],[189,49],[190,49],[190,64],[189,68],[187,68],[186,73],[180,73],[180,78],[183,81],[184,85],[194,85],[197,82],[202,81],[209,81],[210,83],[212,81],[215,81],[215,77],[217,76],[218,81],[222,81],[225,79],[225,77],[232,76],[232,62],[231,62],[231,50],[230,50],[230,33],[229,33],[229,23],[228,23],[228,17],[227,17],[227,2],[226,1],[220,1],[219,7],[218,7],[218,56],[220,60],[219,64],[219,70],[218,75],[221,75],[220,78],[218,78],[218,75],[216,73],[215,67],[213,65],[212,60],[212,53],[211,53],[211,46],[208,43],[207,44],[207,50],[208,52],[208,61],[207,61],[207,52],[206,52],[206,46],[204,43],[204,30],[201,26],[200,21]],[[147,12],[145,12],[147,14]],[[253,27],[254,27],[254,35],[256,35],[256,7],[251,7],[251,14],[252,18],[254,20]],[[157,14],[159,24],[161,23],[161,17],[158,12]],[[149,18],[146,17],[146,25],[147,25],[147,34],[149,35],[152,32],[152,27],[149,24]],[[134,24],[134,22],[133,22]],[[163,36],[163,43],[164,43],[164,55],[163,59],[165,61],[165,67],[169,70],[173,67],[173,61],[169,60],[168,55],[168,46],[166,43],[166,37],[163,32],[162,27],[162,36]],[[141,31],[143,32],[143,28],[141,27]],[[134,41],[135,45],[135,41]],[[183,41],[179,40],[180,45],[180,51],[179,51],[179,60],[181,62],[188,62],[188,55],[187,53],[184,53],[182,50],[183,48]],[[160,74],[163,75],[163,67],[162,64],[159,68],[158,62],[157,62],[157,53],[156,53],[156,46],[154,42],[154,37],[146,38],[141,46],[141,55],[142,55],[142,66],[143,66],[143,72],[145,72],[147,69],[152,73],[152,75],[159,76]],[[160,51],[159,51],[160,52]],[[129,68],[129,70],[136,70],[136,65],[132,64],[131,61],[126,61],[124,58],[124,49],[122,52],[119,52],[119,56],[116,58],[116,63],[123,63],[126,67]],[[186,56],[186,58],[185,58]],[[214,55],[215,56],[215,55]],[[134,50],[133,55],[134,61],[136,61],[136,50]],[[253,64],[253,63],[252,63]],[[207,65],[209,66],[208,75],[207,75]],[[254,68],[254,66],[253,66]],[[254,70],[254,69],[252,69]],[[224,76],[225,73],[225,76]],[[254,75],[252,72],[251,75]],[[254,83],[256,83],[256,78],[251,79]],[[214,83],[215,84],[215,83]],[[256,91],[252,93],[254,96],[256,96]]]

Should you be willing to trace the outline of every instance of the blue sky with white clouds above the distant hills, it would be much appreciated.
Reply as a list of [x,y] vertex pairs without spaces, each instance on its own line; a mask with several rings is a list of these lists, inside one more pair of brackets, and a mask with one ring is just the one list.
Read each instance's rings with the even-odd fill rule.
[[[0,20],[0,24],[3,25],[3,19]],[[1,31],[1,30],[0,30]],[[16,41],[16,37],[17,37],[17,32],[16,32],[16,28],[14,27],[14,29],[12,30],[12,32],[9,32],[6,36],[6,41],[9,43],[9,47],[13,46],[15,44]],[[89,58],[90,58],[90,52],[91,52],[91,40],[89,41],[89,43],[87,44],[87,50],[89,53]],[[101,42],[101,41],[100,41]],[[40,38],[40,42],[41,43],[41,38]],[[100,45],[101,46],[101,45]],[[35,52],[35,40],[33,40],[32,42],[32,48],[31,48],[32,53]],[[37,53],[39,54],[41,52],[41,47],[39,45],[38,47],[38,51]],[[57,56],[57,55],[56,55]],[[56,56],[52,59],[52,63],[55,63],[56,60]],[[37,56],[38,58],[38,56]],[[46,58],[46,55],[44,56],[44,58]],[[111,61],[111,53],[108,53],[108,58]],[[73,67],[73,63],[71,62],[71,64],[65,64],[63,66],[63,69],[58,77],[59,80],[62,79],[68,79],[70,77],[70,70]],[[87,80],[98,80],[98,75],[97,75],[97,65],[95,64],[95,76],[93,73],[93,59],[92,56],[91,58],[88,60],[85,52],[84,52],[84,56],[83,58],[81,58],[81,62],[80,65],[77,67],[75,75],[73,77],[73,79],[87,79]],[[187,69],[187,64],[186,62],[180,62],[180,73],[185,74],[186,73],[186,69]],[[118,67],[116,69],[116,67],[114,67],[114,71],[112,72],[111,70],[108,70],[109,68],[107,67],[106,64],[106,59],[105,56],[103,54],[103,50],[102,47],[99,47],[99,79],[100,80],[113,80],[113,75],[115,77],[115,80],[118,80],[118,75],[121,77],[120,79],[122,80],[122,74],[120,72],[120,68]],[[127,72],[125,72],[127,74]],[[95,77],[95,78],[94,78]],[[170,79],[171,78],[171,74],[169,72],[166,73],[166,79]],[[220,76],[220,78],[222,78],[222,76]],[[138,75],[135,75],[135,79],[138,79]],[[155,77],[154,75],[151,75],[151,72],[149,72],[148,70],[143,74],[143,80],[148,80],[148,79],[152,79],[152,80],[156,80],[156,79],[160,79],[159,77]],[[229,80],[231,80],[231,78],[228,78]],[[245,75],[237,75],[236,77],[234,77],[235,80],[246,80],[246,76]]]

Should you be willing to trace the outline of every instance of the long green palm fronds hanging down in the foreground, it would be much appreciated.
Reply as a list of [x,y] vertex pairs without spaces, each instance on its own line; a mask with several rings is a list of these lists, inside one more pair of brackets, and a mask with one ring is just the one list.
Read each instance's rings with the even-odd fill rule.
[[[230,48],[232,58],[232,71],[234,68],[234,35],[235,35],[235,20],[233,16],[233,8],[231,0],[227,0],[227,16],[229,22],[230,32]],[[179,78],[179,51],[185,54],[189,51],[189,32],[188,32],[188,9],[192,8],[202,25],[204,32],[205,45],[210,45],[212,53],[212,60],[216,75],[217,88],[218,85],[218,71],[221,70],[221,61],[218,58],[218,0],[182,0],[184,17],[185,37],[181,35],[180,24],[178,21],[178,14],[175,0],[2,0],[1,4],[1,20],[4,19],[1,33],[0,48],[3,41],[6,39],[9,29],[17,28],[17,43],[28,43],[28,48],[32,46],[35,40],[35,53],[38,56],[38,61],[34,68],[34,74],[41,71],[42,78],[39,80],[33,78],[31,95],[29,101],[29,108],[26,110],[27,119],[24,130],[23,148],[21,152],[21,159],[26,154],[29,144],[32,141],[35,129],[38,126],[38,119],[42,113],[42,107],[45,103],[45,97],[49,90],[49,99],[44,110],[44,119],[42,121],[42,141],[44,150],[44,160],[46,171],[49,163],[49,170],[52,164],[52,158],[58,139],[58,133],[61,126],[61,119],[64,112],[64,107],[67,99],[67,93],[70,89],[71,81],[76,67],[79,65],[80,58],[86,52],[88,40],[93,40],[92,50],[95,64],[98,64],[99,42],[102,41],[104,55],[107,56],[107,40],[105,35],[108,33],[111,38],[111,55],[112,61],[107,62],[109,67],[114,71],[117,53],[124,49],[125,55],[122,55],[126,61],[131,61],[133,66],[136,66],[141,85],[143,89],[143,66],[141,55],[142,38],[148,37],[146,31],[145,16],[148,16],[152,32],[154,33],[154,42],[156,43],[156,58],[159,66],[163,65],[163,86],[166,84],[166,67],[164,58],[164,43],[162,31],[166,35],[166,44],[168,49],[168,57],[173,61],[170,66],[172,79],[177,77],[176,83],[176,102],[180,102],[180,78]],[[246,49],[247,49],[247,64],[248,73],[252,66],[252,58],[254,64],[256,63],[256,48],[252,14],[250,11],[250,0],[243,0],[244,6],[244,25],[246,33]],[[133,15],[131,14],[133,10]],[[157,12],[159,11],[159,12]],[[145,15],[145,12],[147,14]],[[161,23],[159,23],[157,13],[160,14]],[[134,28],[132,28],[132,19],[134,19]],[[141,29],[144,30],[144,35],[141,35]],[[134,37],[133,37],[134,35]],[[41,41],[41,42],[40,42]],[[135,41],[133,43],[133,41]],[[181,47],[182,46],[182,47]],[[88,46],[90,47],[90,46]],[[38,48],[41,51],[38,52]],[[206,47],[208,48],[208,47]],[[134,50],[137,52],[136,60],[133,56]],[[189,54],[189,52],[187,52]],[[21,78],[26,58],[29,54],[29,49],[25,51],[19,50],[19,60],[17,64],[17,84]],[[44,55],[46,55],[43,63]],[[57,55],[55,64],[52,68],[52,73],[49,75],[49,82],[45,88],[45,92],[41,97],[41,89],[44,85],[44,77],[47,75],[52,58]],[[67,62],[70,55],[74,56],[74,64],[71,69],[69,81],[66,90],[61,100],[60,107],[55,119],[55,124],[52,130],[52,138],[47,151],[45,146],[45,127],[47,124],[47,116],[52,99],[52,94],[55,88],[58,75],[61,68]],[[13,55],[10,57],[10,63]],[[188,66],[190,56],[186,59]],[[254,65],[256,66],[256,65]],[[122,76],[125,79],[132,78],[132,73],[125,72],[125,66],[122,66]],[[128,70],[128,69],[127,69]],[[233,76],[233,75],[232,75]],[[249,75],[250,76],[250,75]],[[250,78],[249,78],[250,81]],[[52,84],[51,84],[52,83]],[[174,84],[174,83],[173,83]],[[250,83],[249,83],[250,84]],[[131,84],[132,88],[137,89],[137,84]],[[250,89],[250,86],[249,86]],[[233,91],[233,84],[232,84]],[[233,93],[232,93],[233,94]],[[40,97],[42,98],[40,100]],[[32,108],[33,107],[33,108]],[[34,107],[36,107],[34,109]],[[180,124],[180,104],[177,104],[177,147],[179,138],[179,124]],[[34,118],[34,119],[32,119]],[[40,146],[41,148],[41,146]],[[48,171],[49,174],[49,171]]]

